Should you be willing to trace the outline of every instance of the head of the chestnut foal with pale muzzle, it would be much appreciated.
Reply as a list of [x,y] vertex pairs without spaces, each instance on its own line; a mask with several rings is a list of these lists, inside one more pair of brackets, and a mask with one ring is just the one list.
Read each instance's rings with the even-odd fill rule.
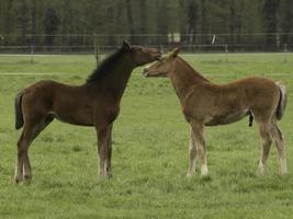
[[173,49],[170,54],[164,56],[157,62],[144,68],[144,77],[168,77],[173,69],[173,60],[179,54],[179,48]]

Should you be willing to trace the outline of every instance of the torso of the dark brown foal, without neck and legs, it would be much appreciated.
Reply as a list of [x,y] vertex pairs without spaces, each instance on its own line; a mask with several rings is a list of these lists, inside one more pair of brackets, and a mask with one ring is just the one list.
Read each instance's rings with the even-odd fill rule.
[[97,84],[68,85],[43,80],[26,88],[23,93],[24,114],[34,111],[34,115],[40,117],[53,116],[61,122],[84,126],[92,126],[97,107],[105,107],[110,102],[106,93]]

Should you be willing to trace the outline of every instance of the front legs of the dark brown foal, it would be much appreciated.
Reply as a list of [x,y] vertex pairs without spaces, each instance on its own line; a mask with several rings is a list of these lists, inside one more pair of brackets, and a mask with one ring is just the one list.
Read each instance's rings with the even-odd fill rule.
[[100,157],[100,175],[111,175],[111,157],[112,157],[112,125],[103,128],[97,128],[98,135],[98,153]]

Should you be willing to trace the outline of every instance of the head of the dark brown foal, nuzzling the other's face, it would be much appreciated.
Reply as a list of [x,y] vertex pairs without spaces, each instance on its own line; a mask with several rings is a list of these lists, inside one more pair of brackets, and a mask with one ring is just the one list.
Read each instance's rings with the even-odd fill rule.
[[131,54],[135,67],[159,60],[161,54],[156,48],[145,48],[143,46],[131,46],[128,43],[123,42],[124,51]]

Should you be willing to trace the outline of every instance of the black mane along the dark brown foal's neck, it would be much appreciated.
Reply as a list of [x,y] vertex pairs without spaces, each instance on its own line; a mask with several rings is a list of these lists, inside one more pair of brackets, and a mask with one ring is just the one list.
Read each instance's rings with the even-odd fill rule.
[[124,49],[121,47],[115,53],[111,54],[106,57],[100,66],[92,71],[92,73],[88,77],[87,83],[99,81],[102,79],[108,72],[113,71],[116,68],[116,62],[122,58],[124,55]]

